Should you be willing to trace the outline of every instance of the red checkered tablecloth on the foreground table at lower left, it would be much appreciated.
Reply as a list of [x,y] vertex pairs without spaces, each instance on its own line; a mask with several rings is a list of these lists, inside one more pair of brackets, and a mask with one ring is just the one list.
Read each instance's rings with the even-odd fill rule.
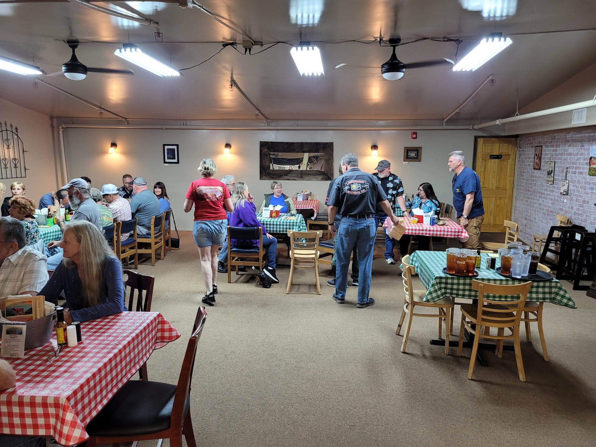
[[180,334],[159,312],[122,312],[81,323],[83,341],[51,343],[7,359],[17,374],[0,392],[0,433],[53,436],[64,446],[83,442],[85,426],[141,368],[154,349]]

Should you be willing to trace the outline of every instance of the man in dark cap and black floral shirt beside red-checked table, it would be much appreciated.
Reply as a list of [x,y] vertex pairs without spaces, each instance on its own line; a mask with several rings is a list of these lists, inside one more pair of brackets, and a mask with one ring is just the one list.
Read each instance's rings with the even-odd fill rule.
[[[387,194],[387,200],[391,205],[391,209],[395,213],[396,216],[408,216],[408,211],[406,210],[406,203],[403,200],[403,184],[401,179],[390,171],[391,163],[388,160],[381,160],[378,162],[377,167],[375,167],[375,172],[373,175],[377,178],[378,182],[381,184],[383,191]],[[377,210],[375,214],[375,221],[377,222],[377,226],[380,224],[383,226],[383,223],[387,219],[386,213],[383,209],[377,204]],[[408,235],[403,235],[399,240],[399,253],[401,256],[408,253],[408,245],[409,245],[410,237]],[[393,254],[393,249],[395,248],[396,241],[393,238],[390,238],[385,232],[385,260],[388,264],[395,264],[395,255]]]

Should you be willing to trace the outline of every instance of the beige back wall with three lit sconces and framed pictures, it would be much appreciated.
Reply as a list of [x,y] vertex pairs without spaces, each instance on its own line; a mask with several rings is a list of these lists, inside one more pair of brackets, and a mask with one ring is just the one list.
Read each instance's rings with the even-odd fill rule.
[[[195,131],[145,129],[66,129],[66,160],[69,178],[86,175],[93,185],[122,185],[123,173],[143,176],[153,187],[154,182],[166,185],[178,228],[190,229],[192,215],[182,212],[182,203],[190,182],[197,178],[197,166],[205,157],[218,165],[216,176],[231,174],[237,181],[246,181],[260,204],[263,194],[271,193],[271,181],[259,180],[259,141],[330,141],[334,142],[336,165],[340,158],[354,152],[360,166],[374,172],[377,162],[392,162],[392,171],[403,179],[405,191],[415,193],[423,181],[433,184],[439,200],[451,203],[451,177],[447,169],[447,154],[463,150],[471,166],[474,133],[470,131],[419,131],[418,139],[410,139],[409,131]],[[110,142],[118,145],[116,154],[108,154]],[[223,154],[226,142],[231,154]],[[180,164],[164,166],[162,144],[180,145]],[[371,144],[379,147],[379,156],[370,155]],[[421,146],[422,162],[403,164],[403,146]],[[295,195],[310,190],[324,203],[327,181],[283,181],[284,193]],[[257,206],[258,206],[257,204]],[[321,207],[322,211],[324,206]]]

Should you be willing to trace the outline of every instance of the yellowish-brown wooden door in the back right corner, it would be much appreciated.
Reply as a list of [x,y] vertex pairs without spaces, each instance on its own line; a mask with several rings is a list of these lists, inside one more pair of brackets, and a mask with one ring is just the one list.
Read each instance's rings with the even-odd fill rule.
[[478,138],[474,170],[480,177],[485,220],[482,232],[504,232],[511,220],[517,138]]

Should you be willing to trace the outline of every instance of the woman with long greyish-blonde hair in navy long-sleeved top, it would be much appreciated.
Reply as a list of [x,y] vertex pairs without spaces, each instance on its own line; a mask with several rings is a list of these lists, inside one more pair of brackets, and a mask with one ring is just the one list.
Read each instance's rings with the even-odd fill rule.
[[39,294],[55,302],[64,291],[69,307],[64,321],[88,321],[126,311],[122,265],[97,226],[71,221],[60,247],[63,262]]

